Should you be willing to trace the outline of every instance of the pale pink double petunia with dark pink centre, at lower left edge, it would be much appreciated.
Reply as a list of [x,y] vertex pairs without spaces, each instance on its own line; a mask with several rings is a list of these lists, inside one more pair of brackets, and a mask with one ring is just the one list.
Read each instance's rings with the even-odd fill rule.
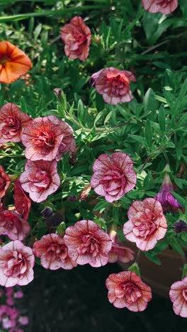
[[29,284],[33,280],[35,257],[33,250],[21,241],[11,241],[0,248],[0,284],[11,287]]

